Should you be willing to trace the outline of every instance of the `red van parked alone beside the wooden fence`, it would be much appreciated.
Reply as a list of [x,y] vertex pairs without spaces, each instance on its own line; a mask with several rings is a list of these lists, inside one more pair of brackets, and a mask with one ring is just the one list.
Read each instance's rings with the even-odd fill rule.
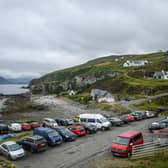
[[139,131],[127,131],[120,134],[111,145],[111,152],[115,156],[130,156],[132,146],[143,144],[143,135]]

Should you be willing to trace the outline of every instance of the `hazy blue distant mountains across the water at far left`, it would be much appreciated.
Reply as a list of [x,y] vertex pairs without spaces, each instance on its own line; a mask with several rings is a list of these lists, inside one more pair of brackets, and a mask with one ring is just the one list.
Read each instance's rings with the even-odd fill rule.
[[28,84],[32,78],[4,78],[0,77],[0,84]]

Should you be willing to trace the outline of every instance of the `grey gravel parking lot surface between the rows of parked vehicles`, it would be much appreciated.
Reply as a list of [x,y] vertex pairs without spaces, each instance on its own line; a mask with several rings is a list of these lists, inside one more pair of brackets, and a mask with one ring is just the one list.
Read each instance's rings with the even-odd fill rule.
[[15,164],[17,168],[86,168],[88,162],[95,157],[111,155],[112,141],[124,131],[139,130],[143,132],[145,141],[151,140],[148,125],[156,120],[158,118],[132,122],[122,127],[113,127],[109,131],[80,137],[61,146],[49,147],[42,153],[27,153],[25,158],[15,161]]

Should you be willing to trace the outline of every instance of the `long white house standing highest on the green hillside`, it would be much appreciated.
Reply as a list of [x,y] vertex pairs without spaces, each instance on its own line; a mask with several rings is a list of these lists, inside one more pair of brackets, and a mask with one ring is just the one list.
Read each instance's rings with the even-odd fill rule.
[[123,67],[138,67],[138,66],[144,66],[147,63],[148,63],[147,60],[127,60],[123,64]]

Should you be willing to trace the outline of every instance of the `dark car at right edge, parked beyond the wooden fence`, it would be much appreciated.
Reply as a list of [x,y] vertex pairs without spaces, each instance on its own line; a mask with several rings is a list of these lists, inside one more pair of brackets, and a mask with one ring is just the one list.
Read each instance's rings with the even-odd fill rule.
[[154,130],[159,130],[159,129],[163,129],[163,128],[168,128],[168,119],[163,119],[158,122],[153,122],[149,126],[149,131],[153,132]]

